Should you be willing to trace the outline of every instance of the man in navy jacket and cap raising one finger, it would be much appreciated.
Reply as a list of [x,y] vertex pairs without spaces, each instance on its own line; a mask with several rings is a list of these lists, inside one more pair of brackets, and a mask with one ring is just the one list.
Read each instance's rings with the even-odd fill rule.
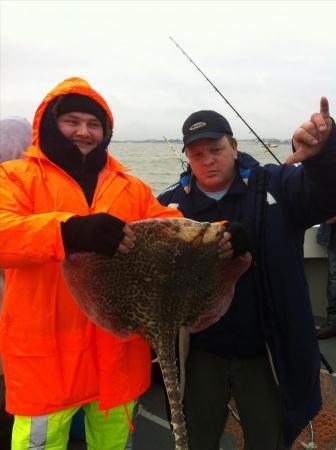
[[190,449],[219,449],[233,395],[245,448],[282,450],[321,408],[303,241],[307,228],[336,215],[328,101],[322,97],[320,112],[296,130],[286,164],[261,167],[238,152],[230,124],[215,111],[191,114],[183,139],[189,168],[159,201],[194,220],[241,222],[253,255],[226,315],[191,337],[184,397]]

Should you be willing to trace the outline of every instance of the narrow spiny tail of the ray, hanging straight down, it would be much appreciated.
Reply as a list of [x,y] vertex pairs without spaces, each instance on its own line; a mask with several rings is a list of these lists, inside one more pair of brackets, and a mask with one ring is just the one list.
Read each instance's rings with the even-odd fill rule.
[[182,395],[178,380],[174,340],[172,340],[172,343],[172,348],[170,348],[168,354],[160,348],[156,348],[155,351],[168,395],[171,425],[175,437],[175,450],[189,450],[187,429],[182,410]]

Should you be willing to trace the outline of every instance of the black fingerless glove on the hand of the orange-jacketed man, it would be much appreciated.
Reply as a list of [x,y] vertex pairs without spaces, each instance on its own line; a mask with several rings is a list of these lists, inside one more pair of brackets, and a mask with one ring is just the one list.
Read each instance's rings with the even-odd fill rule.
[[125,234],[125,222],[106,213],[75,216],[61,223],[64,248],[113,256]]

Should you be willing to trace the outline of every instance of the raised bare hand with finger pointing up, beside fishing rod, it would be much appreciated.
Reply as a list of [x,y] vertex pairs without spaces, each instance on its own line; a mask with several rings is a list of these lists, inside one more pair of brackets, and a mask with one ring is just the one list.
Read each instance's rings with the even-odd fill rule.
[[321,97],[320,112],[314,113],[309,121],[295,131],[293,136],[295,153],[287,158],[286,164],[299,163],[317,155],[327,142],[331,128],[329,103],[326,97]]

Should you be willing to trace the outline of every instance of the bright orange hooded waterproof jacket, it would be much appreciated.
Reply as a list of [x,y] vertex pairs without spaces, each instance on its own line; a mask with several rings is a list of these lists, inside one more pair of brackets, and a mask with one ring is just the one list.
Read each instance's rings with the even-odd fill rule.
[[101,409],[130,401],[150,383],[148,345],[138,335],[118,339],[79,309],[62,274],[60,223],[73,215],[107,212],[131,222],[180,216],[161,206],[150,188],[109,157],[89,207],[79,185],[39,147],[41,117],[58,95],[105,101],[82,79],[61,83],[41,103],[26,160],[0,165],[0,267],[6,290],[0,344],[7,411],[42,415],[99,400]]

